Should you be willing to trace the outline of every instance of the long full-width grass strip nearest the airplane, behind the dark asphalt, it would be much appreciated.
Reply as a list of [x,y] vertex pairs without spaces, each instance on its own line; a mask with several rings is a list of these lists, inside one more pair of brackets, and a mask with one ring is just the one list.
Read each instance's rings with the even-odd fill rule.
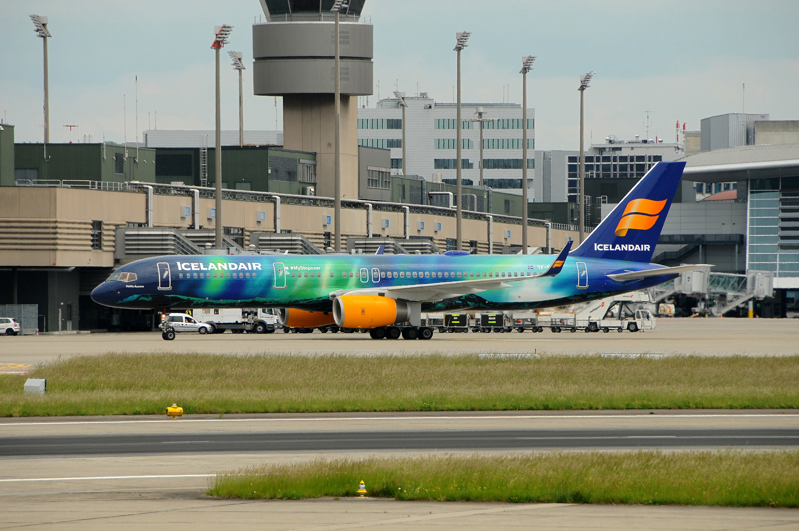
[[[44,397],[27,377],[47,379]],[[0,416],[797,408],[799,357],[110,353],[0,375]]]

